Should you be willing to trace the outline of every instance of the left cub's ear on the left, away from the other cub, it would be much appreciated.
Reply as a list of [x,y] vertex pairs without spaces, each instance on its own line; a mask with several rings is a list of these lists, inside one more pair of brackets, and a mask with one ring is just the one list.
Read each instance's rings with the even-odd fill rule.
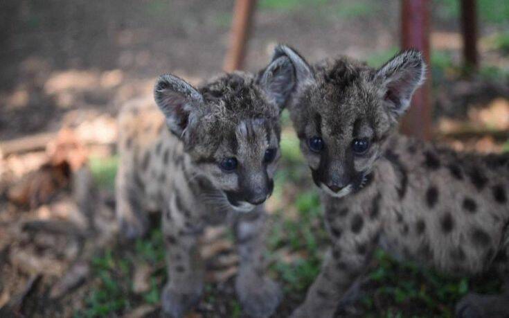
[[161,75],[154,86],[154,99],[166,116],[171,132],[181,137],[190,115],[203,103],[202,94],[185,80],[170,74]]

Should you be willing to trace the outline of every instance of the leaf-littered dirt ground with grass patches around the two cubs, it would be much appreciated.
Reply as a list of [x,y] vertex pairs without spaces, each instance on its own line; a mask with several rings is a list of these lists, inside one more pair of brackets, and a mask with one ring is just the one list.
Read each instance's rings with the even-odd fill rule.
[[[264,67],[278,42],[294,46],[309,61],[345,54],[380,65],[397,50],[400,27],[400,1],[381,3],[260,0],[246,69]],[[117,238],[111,188],[115,115],[127,100],[152,94],[154,79],[162,73],[193,84],[219,73],[232,6],[233,0],[1,1],[0,317],[159,316],[159,289],[166,279],[161,233],[155,229],[134,245]],[[490,42],[492,35],[507,32],[508,25],[481,24],[483,69],[479,76],[465,78],[458,66],[458,19],[445,9],[433,6],[432,12],[431,42],[437,54],[429,77],[435,83],[437,139],[458,150],[508,151],[509,58]],[[56,135],[64,126],[71,132]],[[19,143],[11,141],[26,136],[37,136],[30,139],[36,146],[12,150]],[[51,148],[55,140],[68,148]],[[291,133],[285,139],[289,157],[282,164],[281,178],[287,182],[280,190],[283,199],[269,202],[272,225],[285,232],[275,230],[269,239],[274,248],[271,273],[285,288],[285,301],[274,317],[287,317],[302,301],[326,245],[316,193],[305,186],[305,166],[292,157],[298,157],[295,140]],[[1,147],[8,143],[12,153]],[[89,163],[80,169],[87,158]],[[61,166],[62,160],[71,166]],[[43,164],[49,166],[38,170]],[[23,190],[37,193],[26,190],[30,194],[21,195],[22,204],[8,202],[9,191],[20,182]],[[299,195],[308,192],[310,202]],[[289,206],[288,215],[278,212],[283,206]],[[312,232],[306,242],[295,242],[307,235],[294,229],[296,215],[305,219],[305,231]],[[213,274],[189,317],[242,317],[233,300],[236,259],[229,233],[221,229],[209,235],[204,253]],[[298,263],[300,258],[306,263]],[[292,262],[300,276],[292,276]],[[371,305],[354,306],[341,315],[377,317],[381,308],[390,308],[383,311],[387,317],[398,312],[447,317],[465,292],[465,281],[416,275],[413,267],[397,267],[385,256],[378,263],[390,275],[399,270],[402,277],[420,277],[419,282],[443,279],[456,289],[433,296],[421,311],[409,311],[411,299],[395,303],[383,294]],[[379,281],[367,285],[371,290],[382,287]]]

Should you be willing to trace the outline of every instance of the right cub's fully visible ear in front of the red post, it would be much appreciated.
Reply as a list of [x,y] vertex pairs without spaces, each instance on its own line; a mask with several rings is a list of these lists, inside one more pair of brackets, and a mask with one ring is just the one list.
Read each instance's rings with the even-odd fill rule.
[[384,100],[389,110],[400,116],[410,105],[413,92],[424,82],[426,63],[422,54],[408,50],[395,55],[375,74],[375,80],[386,89]]

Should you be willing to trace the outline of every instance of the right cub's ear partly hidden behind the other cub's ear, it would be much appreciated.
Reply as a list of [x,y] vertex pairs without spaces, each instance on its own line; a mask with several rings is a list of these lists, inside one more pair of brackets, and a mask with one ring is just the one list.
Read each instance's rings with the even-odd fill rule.
[[314,82],[313,71],[304,58],[289,46],[283,44],[276,46],[272,61],[276,62],[281,57],[286,57],[292,64],[295,76],[294,92],[298,96],[304,87]]

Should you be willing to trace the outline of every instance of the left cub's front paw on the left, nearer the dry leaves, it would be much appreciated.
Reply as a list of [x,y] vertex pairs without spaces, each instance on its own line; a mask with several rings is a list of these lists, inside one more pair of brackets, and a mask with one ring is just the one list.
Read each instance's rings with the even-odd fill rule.
[[184,314],[193,308],[202,296],[201,288],[197,288],[195,292],[181,292],[179,288],[169,286],[164,287],[161,296],[161,306],[163,313],[170,315],[172,318],[184,317]]

